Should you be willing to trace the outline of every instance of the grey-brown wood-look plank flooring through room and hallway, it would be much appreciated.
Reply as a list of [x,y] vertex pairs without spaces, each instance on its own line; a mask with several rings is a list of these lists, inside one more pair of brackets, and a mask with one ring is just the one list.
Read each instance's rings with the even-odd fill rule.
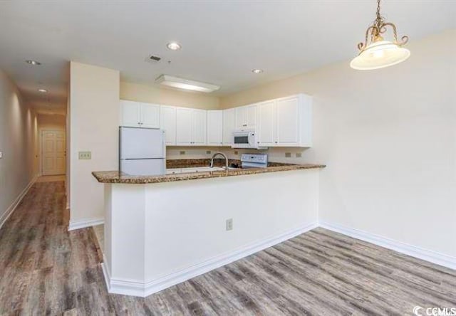
[[413,315],[456,307],[456,271],[317,228],[147,298],[110,295],[63,182],[32,186],[0,229],[0,315]]

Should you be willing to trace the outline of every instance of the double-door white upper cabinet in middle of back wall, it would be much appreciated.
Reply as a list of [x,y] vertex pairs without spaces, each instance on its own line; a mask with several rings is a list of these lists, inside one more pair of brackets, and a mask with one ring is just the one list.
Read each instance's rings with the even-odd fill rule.
[[176,111],[176,144],[206,144],[206,111],[186,107],[177,107]]

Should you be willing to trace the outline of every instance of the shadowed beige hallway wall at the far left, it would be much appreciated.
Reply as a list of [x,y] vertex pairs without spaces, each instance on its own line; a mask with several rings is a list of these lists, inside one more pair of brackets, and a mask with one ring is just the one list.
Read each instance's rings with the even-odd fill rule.
[[0,226],[37,173],[36,114],[0,70]]

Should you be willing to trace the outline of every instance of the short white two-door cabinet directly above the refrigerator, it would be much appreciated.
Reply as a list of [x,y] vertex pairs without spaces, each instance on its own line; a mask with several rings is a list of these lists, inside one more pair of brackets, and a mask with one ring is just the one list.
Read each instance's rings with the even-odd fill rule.
[[160,128],[160,105],[120,100],[120,126]]

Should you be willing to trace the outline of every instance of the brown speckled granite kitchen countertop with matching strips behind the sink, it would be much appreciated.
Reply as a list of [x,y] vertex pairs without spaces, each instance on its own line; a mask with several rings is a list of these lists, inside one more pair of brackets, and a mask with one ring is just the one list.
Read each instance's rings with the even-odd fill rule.
[[[169,159],[166,162],[167,169],[175,168],[194,168],[194,167],[209,167],[210,159]],[[214,167],[222,167],[223,159],[215,159]],[[239,160],[229,159],[229,165],[239,164]],[[182,174],[165,174],[159,176],[130,176],[118,171],[92,172],[93,177],[101,183],[123,183],[123,184],[149,184],[160,182],[172,182],[192,179],[206,179],[218,177],[233,177],[242,176],[245,174],[263,174],[266,172],[283,172],[289,170],[300,169],[318,169],[326,167],[324,164],[281,164],[277,162],[269,162],[266,168],[251,168],[251,169],[230,169],[213,172],[189,172]]]

